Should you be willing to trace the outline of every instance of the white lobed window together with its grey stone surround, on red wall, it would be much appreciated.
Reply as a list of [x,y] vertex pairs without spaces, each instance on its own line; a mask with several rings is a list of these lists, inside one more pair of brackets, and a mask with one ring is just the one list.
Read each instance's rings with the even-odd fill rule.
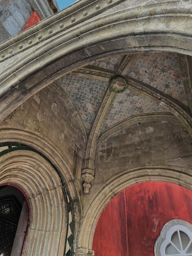
[[154,247],[155,256],[192,256],[192,225],[173,219],[161,229]]

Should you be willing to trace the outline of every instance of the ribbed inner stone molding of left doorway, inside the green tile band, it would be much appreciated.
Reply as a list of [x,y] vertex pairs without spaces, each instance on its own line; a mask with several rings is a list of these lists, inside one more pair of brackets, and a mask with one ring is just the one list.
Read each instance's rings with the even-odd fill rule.
[[1,184],[16,184],[29,200],[30,220],[23,255],[36,256],[43,252],[42,255],[63,256],[67,206],[59,177],[53,173],[53,167],[45,159],[29,150],[1,156]]

